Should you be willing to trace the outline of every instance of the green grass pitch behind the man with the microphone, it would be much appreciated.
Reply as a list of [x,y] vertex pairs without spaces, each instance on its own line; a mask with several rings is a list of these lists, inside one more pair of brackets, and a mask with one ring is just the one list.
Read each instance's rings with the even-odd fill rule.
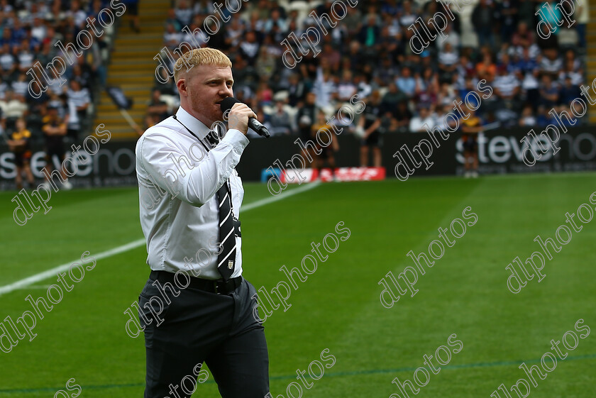
[[[434,355],[457,333],[463,350],[431,374],[416,397],[489,398],[501,383],[509,387],[525,377],[519,364],[536,364],[551,351],[551,339],[561,340],[581,318],[592,333],[538,380],[530,397],[592,398],[596,220],[574,232],[546,262],[546,277],[529,281],[519,294],[507,289],[505,267],[515,256],[524,260],[539,250],[534,237],[553,237],[565,212],[589,204],[595,191],[592,173],[391,179],[321,184],[242,213],[244,276],[267,291],[287,280],[282,265],[299,267],[311,254],[311,242],[320,243],[338,222],[351,231],[292,289],[291,308],[277,309],[265,321],[273,397],[287,398],[296,370],[329,348],[336,363],[311,389],[303,388],[302,397],[387,398],[398,394],[394,377],[412,380],[423,355]],[[135,188],[58,192],[50,199],[53,209],[35,214],[26,226],[12,219],[15,193],[0,193],[1,286],[74,262],[86,250],[96,255],[142,238]],[[266,197],[264,184],[245,184],[244,204]],[[478,214],[475,226],[419,275],[414,297],[406,294],[384,308],[381,278],[413,265],[409,250],[428,252],[437,228],[449,228],[466,206]],[[84,280],[38,319],[33,341],[26,338],[11,353],[0,352],[0,397],[53,397],[73,377],[82,387],[80,397],[141,397],[143,336],[127,336],[123,311],[148,277],[145,256],[141,245],[97,260]],[[55,276],[1,295],[0,320],[21,316],[31,309],[25,297],[45,295],[53,283]],[[219,397],[211,375],[194,397]]]

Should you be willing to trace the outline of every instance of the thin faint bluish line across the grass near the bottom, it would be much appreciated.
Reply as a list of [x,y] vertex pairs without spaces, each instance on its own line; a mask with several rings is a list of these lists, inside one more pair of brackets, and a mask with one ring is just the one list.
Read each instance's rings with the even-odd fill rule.
[[[575,357],[565,358],[568,360],[583,360],[596,358],[596,354],[577,355]],[[497,362],[488,363],[464,363],[463,365],[441,365],[442,369],[470,369],[473,367],[495,367],[495,366],[508,366],[508,365],[521,365],[522,363],[539,363],[541,359],[532,360],[502,360]],[[417,367],[399,367],[397,369],[370,369],[370,370],[354,370],[352,372],[335,372],[329,373],[327,377],[342,377],[342,376],[356,376],[356,375],[373,375],[379,373],[399,373],[399,372],[412,372],[418,369]],[[290,380],[295,379],[296,375],[282,375],[272,376],[269,380]],[[203,384],[212,384],[214,380],[207,380]],[[82,385],[82,389],[111,389],[111,388],[126,388],[126,387],[144,387],[145,383],[127,383],[121,385]],[[27,388],[27,389],[0,389],[0,394],[16,394],[19,392],[55,392],[64,387],[40,387],[40,388]]]

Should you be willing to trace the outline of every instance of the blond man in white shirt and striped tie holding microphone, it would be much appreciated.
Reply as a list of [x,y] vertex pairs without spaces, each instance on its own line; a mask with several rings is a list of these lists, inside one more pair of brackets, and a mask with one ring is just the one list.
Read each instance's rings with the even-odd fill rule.
[[221,397],[269,392],[256,291],[242,277],[244,190],[235,170],[248,145],[248,118],[256,115],[234,104],[225,136],[218,142],[219,133],[210,133],[223,121],[220,102],[233,96],[231,65],[212,48],[180,57],[174,74],[180,108],[136,145],[140,225],[151,268],[139,296],[145,398],[190,397],[194,389],[182,380],[192,377],[196,388],[203,362]]

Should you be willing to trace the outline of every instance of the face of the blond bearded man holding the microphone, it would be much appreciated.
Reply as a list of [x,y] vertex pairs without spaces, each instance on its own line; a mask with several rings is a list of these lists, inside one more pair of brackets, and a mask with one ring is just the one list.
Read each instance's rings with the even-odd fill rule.
[[[223,112],[219,103],[228,96],[234,96],[232,70],[230,67],[216,65],[195,66],[185,77],[185,91],[191,114],[205,126],[211,127],[216,121],[223,121]],[[182,80],[180,79],[180,80]]]

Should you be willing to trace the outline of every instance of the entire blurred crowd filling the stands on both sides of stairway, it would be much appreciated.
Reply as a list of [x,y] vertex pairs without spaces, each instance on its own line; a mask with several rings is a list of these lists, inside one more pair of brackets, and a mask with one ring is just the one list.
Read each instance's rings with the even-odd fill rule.
[[[435,0],[360,0],[354,7],[347,6],[341,18],[330,12],[331,0],[227,3],[234,1],[241,4],[237,7],[241,11],[220,8],[221,16],[230,21],[220,23],[202,45],[223,50],[231,58],[238,99],[255,109],[273,134],[310,139],[321,112],[337,114],[358,95],[365,101],[365,111],[348,129],[365,138],[363,165],[368,164],[368,147],[374,149],[373,163],[380,165],[382,133],[426,131],[425,125],[447,128],[444,116],[452,111],[453,102],[475,91],[481,79],[493,90],[475,112],[475,123],[500,128],[546,126],[553,121],[549,111],[568,109],[584,82],[587,0],[575,1],[575,22],[569,28],[552,20],[562,19],[552,0],[478,0],[467,13],[458,13],[453,4],[447,10]],[[170,54],[180,43],[193,41],[182,28],[194,31],[205,26],[206,18],[218,15],[208,0],[171,4],[163,36]],[[65,124],[60,131],[66,133],[60,135],[76,140],[89,131],[93,102],[106,82],[114,29],[106,29],[73,65],[67,64],[62,75],[65,84],[50,72],[48,89],[39,98],[31,96],[28,86],[40,74],[32,68],[35,62],[47,65],[56,56],[66,57],[56,44],[74,43],[77,33],[86,28],[87,18],[97,18],[106,6],[109,2],[104,0],[0,0],[0,128],[5,140],[15,132],[22,138],[18,131],[24,128],[32,139],[51,141],[47,131],[53,128],[49,121],[54,116],[50,109]],[[541,16],[535,13],[541,8],[552,10],[546,18],[555,27],[546,40],[536,33]],[[313,9],[316,16],[331,16],[331,21],[322,20],[329,34],[321,32],[309,16]],[[423,21],[435,35],[428,21],[436,12],[455,16],[443,31],[446,38],[427,37],[428,47],[414,52],[409,44],[414,29],[409,28]],[[134,18],[133,27],[143,34]],[[336,26],[331,28],[330,22]],[[212,19],[206,25],[215,27]],[[471,42],[465,26],[475,33]],[[320,52],[314,56],[309,51],[296,67],[286,67],[282,62],[286,48],[280,43],[289,33],[301,37],[308,28],[319,31],[321,42],[316,47]],[[302,47],[309,48],[304,38]],[[156,79],[148,92],[145,127],[158,123],[177,106],[175,83],[165,70],[160,72],[162,82]],[[24,124],[20,130],[19,120],[19,126]],[[13,151],[22,152],[22,139],[13,141]]]

